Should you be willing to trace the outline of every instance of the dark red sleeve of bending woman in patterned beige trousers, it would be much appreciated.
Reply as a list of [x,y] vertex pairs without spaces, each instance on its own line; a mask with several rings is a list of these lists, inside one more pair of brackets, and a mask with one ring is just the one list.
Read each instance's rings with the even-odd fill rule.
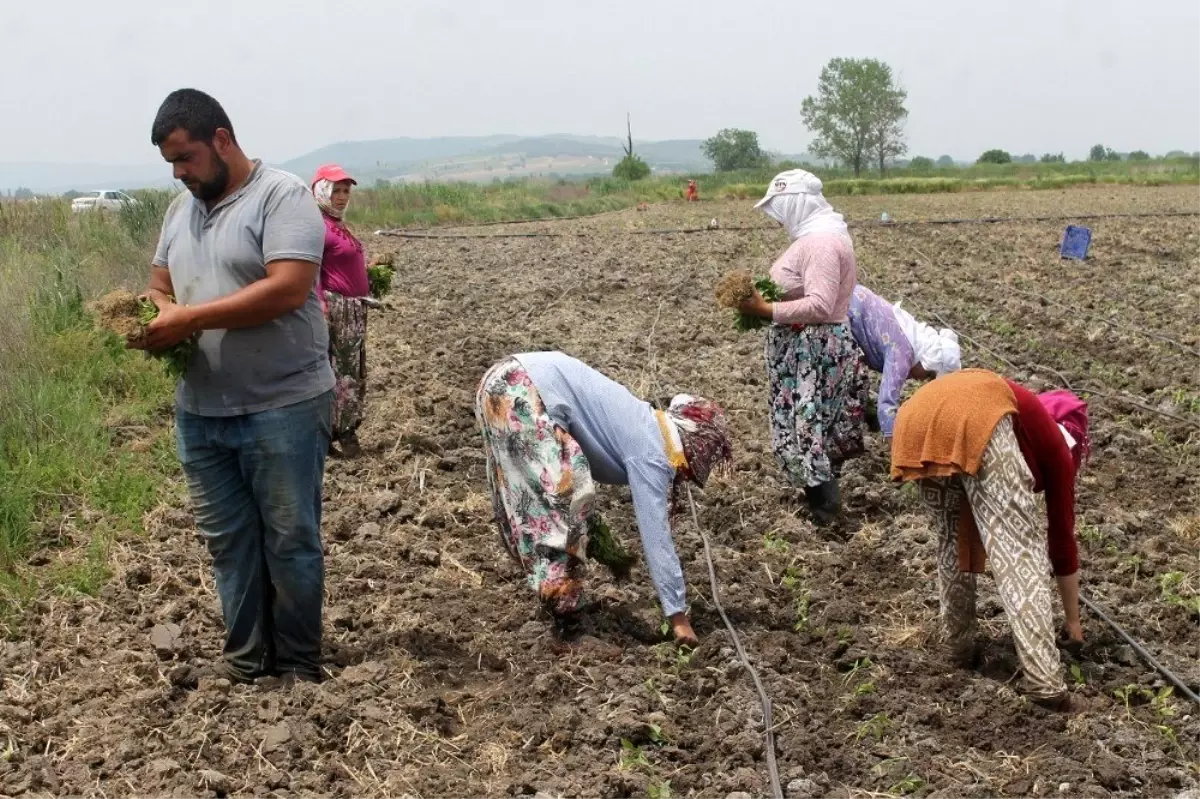
[[1054,416],[1032,391],[1008,382],[1016,397],[1016,421],[1030,470],[1040,476],[1046,494],[1046,539],[1050,565],[1058,577],[1079,571],[1075,542],[1075,463]]

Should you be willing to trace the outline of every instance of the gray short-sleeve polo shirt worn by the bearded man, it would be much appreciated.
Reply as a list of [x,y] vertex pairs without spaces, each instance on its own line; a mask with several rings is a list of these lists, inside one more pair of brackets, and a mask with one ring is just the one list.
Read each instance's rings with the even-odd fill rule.
[[[256,162],[212,210],[184,192],[170,204],[154,265],[170,271],[175,300],[199,305],[266,277],[274,260],[320,264],[325,224],[293,174]],[[205,330],[179,383],[179,407],[236,416],[304,402],[334,388],[329,329],[316,282],[301,308],[257,328]]]

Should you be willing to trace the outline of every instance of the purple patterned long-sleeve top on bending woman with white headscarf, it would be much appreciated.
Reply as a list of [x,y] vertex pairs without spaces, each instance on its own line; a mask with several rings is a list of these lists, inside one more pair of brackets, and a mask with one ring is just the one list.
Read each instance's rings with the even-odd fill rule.
[[850,298],[850,331],[866,355],[868,365],[883,373],[877,415],[880,431],[890,438],[900,409],[900,392],[917,355],[900,330],[892,305],[865,286],[856,286]]

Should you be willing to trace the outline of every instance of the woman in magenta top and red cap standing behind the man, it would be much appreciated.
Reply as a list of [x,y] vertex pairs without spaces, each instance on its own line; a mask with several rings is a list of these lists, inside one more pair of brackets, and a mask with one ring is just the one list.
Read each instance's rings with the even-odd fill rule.
[[329,322],[329,359],[337,378],[332,440],[350,457],[359,452],[358,428],[366,400],[371,304],[362,244],[342,221],[354,185],[356,181],[336,164],[320,167],[312,179],[312,193],[325,220],[325,254],[317,289]]

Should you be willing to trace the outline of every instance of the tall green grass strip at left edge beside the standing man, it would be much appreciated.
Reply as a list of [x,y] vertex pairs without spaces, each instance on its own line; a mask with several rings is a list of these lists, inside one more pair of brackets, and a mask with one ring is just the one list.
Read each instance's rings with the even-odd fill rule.
[[[163,196],[164,198],[166,196]],[[95,593],[113,540],[178,470],[162,365],[95,330],[96,294],[146,280],[155,210],[0,204],[0,629],[44,591]],[[119,440],[120,439],[120,440]],[[37,558],[31,560],[31,557]]]

